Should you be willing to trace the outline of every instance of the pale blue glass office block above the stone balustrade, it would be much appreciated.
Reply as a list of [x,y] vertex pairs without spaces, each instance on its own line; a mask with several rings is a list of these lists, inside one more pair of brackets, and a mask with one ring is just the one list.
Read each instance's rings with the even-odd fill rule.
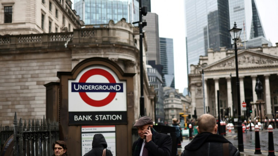
[[85,25],[118,22],[122,18],[128,23],[139,21],[137,0],[75,0],[74,9]]

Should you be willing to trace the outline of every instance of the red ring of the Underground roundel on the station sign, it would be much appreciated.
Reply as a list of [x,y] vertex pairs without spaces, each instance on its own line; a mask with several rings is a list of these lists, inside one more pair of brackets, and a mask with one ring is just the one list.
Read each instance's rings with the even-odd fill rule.
[[[87,79],[93,75],[101,75],[107,78],[109,83],[116,83],[115,78],[106,70],[95,68],[86,71],[80,78],[80,83],[86,83]],[[109,95],[104,98],[103,100],[93,100],[91,99],[86,92],[79,92],[81,99],[86,102],[87,104],[95,107],[102,107],[109,104],[116,96],[116,92],[110,92]]]

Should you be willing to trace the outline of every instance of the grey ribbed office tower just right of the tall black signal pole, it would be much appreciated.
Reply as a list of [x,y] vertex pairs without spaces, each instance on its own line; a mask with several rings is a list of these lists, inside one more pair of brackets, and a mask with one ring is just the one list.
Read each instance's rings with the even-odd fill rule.
[[147,63],[155,60],[155,64],[160,64],[158,15],[148,12],[144,20],[147,22],[147,26],[143,28],[147,35]]

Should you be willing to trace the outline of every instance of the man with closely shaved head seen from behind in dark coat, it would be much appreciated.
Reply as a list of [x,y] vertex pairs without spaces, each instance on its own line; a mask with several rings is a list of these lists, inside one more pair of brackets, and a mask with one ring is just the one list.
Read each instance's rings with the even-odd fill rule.
[[232,143],[217,133],[217,124],[214,116],[203,114],[198,119],[197,130],[199,134],[184,147],[181,156],[240,156]]

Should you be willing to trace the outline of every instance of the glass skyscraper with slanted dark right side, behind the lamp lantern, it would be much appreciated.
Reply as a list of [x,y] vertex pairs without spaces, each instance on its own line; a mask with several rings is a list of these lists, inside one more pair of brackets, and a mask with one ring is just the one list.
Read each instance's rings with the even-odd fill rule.
[[238,28],[242,28],[240,38],[242,41],[248,41],[245,43],[246,48],[262,46],[264,43],[272,46],[272,43],[265,39],[255,0],[229,0],[229,8],[230,28],[234,26],[234,22]]

